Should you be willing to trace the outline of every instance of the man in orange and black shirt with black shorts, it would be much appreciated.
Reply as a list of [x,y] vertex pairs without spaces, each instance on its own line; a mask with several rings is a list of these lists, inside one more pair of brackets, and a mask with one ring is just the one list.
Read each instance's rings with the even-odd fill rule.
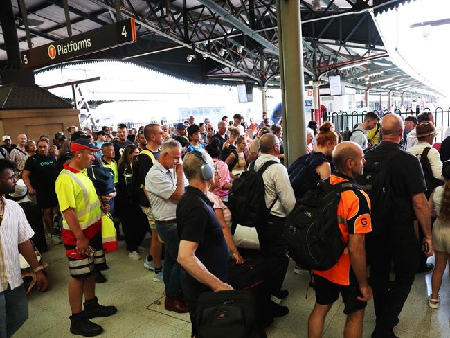
[[[344,141],[336,145],[332,161],[336,171],[330,184],[350,182],[363,173],[363,150],[357,143]],[[341,258],[331,268],[314,272],[316,305],[309,316],[308,337],[322,337],[323,323],[333,303],[342,295],[345,305],[344,337],[362,337],[363,316],[372,289],[366,278],[364,234],[372,231],[368,195],[359,189],[341,192],[337,208],[337,224],[341,239],[347,244]]]

